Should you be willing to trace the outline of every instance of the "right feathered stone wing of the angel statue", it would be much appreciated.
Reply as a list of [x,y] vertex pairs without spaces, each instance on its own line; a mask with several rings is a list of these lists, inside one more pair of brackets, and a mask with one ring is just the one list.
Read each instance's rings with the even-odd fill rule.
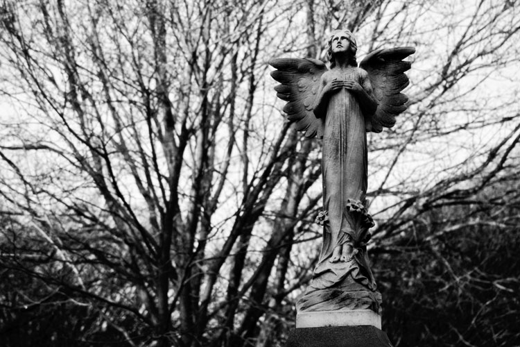
[[369,53],[359,65],[367,71],[374,96],[379,103],[370,124],[367,124],[367,130],[380,133],[383,126],[392,128],[395,117],[408,107],[408,96],[401,93],[401,90],[408,86],[408,77],[404,71],[410,69],[412,63],[403,59],[413,53],[413,47],[378,49]]

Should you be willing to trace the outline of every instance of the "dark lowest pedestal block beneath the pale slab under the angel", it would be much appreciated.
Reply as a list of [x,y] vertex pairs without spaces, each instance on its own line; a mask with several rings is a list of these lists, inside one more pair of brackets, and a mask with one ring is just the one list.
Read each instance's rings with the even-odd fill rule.
[[385,332],[372,325],[296,328],[286,347],[393,347]]

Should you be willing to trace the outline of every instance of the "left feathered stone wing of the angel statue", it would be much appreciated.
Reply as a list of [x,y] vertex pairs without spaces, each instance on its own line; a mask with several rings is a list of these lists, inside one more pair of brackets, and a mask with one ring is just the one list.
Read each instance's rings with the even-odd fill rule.
[[281,83],[277,96],[288,103],[284,106],[287,119],[306,137],[323,137],[322,120],[315,117],[312,105],[320,86],[320,77],[327,71],[324,62],[316,59],[277,58],[269,61],[274,67],[272,78]]

